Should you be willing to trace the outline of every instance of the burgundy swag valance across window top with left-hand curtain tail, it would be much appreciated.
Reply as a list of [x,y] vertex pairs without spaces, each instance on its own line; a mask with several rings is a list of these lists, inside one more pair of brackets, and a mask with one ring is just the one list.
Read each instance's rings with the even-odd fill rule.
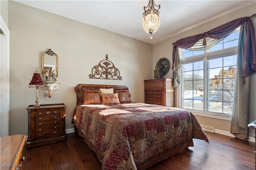
[[[173,70],[173,78],[174,78],[174,88],[176,88],[178,84],[180,84],[179,70],[180,70],[181,62],[180,62],[180,54],[178,53],[177,47],[181,49],[189,49],[194,51],[208,49],[213,45],[215,45],[216,43],[218,43],[219,41],[221,41],[222,39],[224,39],[225,37],[227,37],[237,27],[239,27],[240,25],[242,25],[244,22],[248,20],[250,20],[250,17],[238,18],[236,20],[220,25],[219,27],[211,29],[210,31],[207,31],[205,33],[182,38],[176,41],[173,45],[173,52],[172,52],[172,70]],[[175,61],[175,60],[178,60],[178,61]]]

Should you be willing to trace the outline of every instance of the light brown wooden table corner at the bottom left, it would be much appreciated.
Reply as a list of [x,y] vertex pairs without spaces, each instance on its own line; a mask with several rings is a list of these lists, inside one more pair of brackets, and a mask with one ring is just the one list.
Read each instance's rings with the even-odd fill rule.
[[22,151],[25,142],[25,135],[0,137],[1,170],[22,170],[22,163],[24,161]]

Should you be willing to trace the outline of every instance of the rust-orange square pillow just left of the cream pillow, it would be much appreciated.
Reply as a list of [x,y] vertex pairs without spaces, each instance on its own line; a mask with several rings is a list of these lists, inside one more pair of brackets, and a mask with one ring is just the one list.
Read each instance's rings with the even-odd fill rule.
[[99,90],[84,90],[83,104],[101,104]]

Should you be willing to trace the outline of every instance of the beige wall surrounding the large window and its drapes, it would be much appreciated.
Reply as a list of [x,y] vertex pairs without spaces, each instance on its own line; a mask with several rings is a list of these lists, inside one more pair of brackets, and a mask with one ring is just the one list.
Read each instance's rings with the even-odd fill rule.
[[[154,44],[153,45],[152,68],[155,67],[156,62],[161,57],[166,57],[170,60],[170,62],[172,61],[172,47],[173,47],[172,43],[174,43],[175,41],[177,41],[181,38],[184,38],[184,37],[191,36],[191,35],[204,33],[206,31],[209,31],[210,29],[218,27],[224,23],[235,20],[237,18],[251,16],[256,11],[255,7],[256,7],[256,4],[252,4],[250,6],[247,6],[246,8],[242,8],[241,10],[232,12],[232,13],[222,16],[216,20],[212,20],[208,23],[205,23],[203,25],[200,25],[200,26],[190,29],[188,31],[184,31],[183,33],[180,33],[180,34],[175,35],[169,39],[161,41],[160,43]],[[254,29],[256,32],[256,17],[252,18],[252,21],[254,23]],[[168,72],[168,75],[166,75],[164,77],[172,78],[172,71]],[[256,83],[256,74],[251,76],[250,121],[254,121],[256,119],[256,86],[255,86],[255,83]],[[179,104],[180,104],[179,88],[176,89],[175,96],[176,96],[175,104],[176,104],[176,106],[179,107]],[[219,132],[222,132],[222,131],[223,131],[223,133],[230,132],[230,125],[231,125],[230,120],[222,120],[222,119],[216,119],[216,118],[211,118],[211,117],[203,117],[203,116],[199,116],[199,115],[196,115],[196,117],[202,125],[215,127],[216,129],[219,130]],[[252,130],[250,130],[249,135],[250,135],[250,137],[253,137]]]

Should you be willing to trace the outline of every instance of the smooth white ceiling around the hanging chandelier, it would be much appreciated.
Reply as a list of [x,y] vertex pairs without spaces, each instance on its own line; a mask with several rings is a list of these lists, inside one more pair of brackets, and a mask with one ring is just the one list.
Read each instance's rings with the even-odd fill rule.
[[146,43],[155,44],[188,29],[255,3],[255,0],[154,0],[160,8],[160,27],[147,34],[142,28],[148,0],[15,0]]

